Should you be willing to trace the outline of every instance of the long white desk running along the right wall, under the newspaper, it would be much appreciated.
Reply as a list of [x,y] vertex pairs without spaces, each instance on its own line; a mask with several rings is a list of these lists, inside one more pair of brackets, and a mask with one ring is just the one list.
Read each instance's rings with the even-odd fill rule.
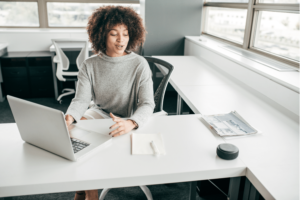
[[[196,58],[157,56],[174,65],[174,77],[191,69]],[[185,61],[181,66],[179,59]],[[198,68],[203,68],[198,62]],[[194,64],[193,64],[194,65]],[[196,66],[194,65],[193,68]],[[200,71],[200,70],[198,70]],[[190,71],[192,76],[194,71]],[[220,75],[220,73],[216,73]],[[189,81],[185,72],[181,79]],[[224,139],[240,149],[240,158],[246,164],[247,178],[266,199],[300,199],[300,121],[281,112],[282,108],[253,94],[233,81],[226,80],[224,85],[209,82],[197,84],[191,80],[188,84],[173,77],[171,84],[195,113],[217,114],[238,111],[250,124],[263,134],[236,139]],[[222,80],[227,79],[225,76]],[[207,83],[207,84],[206,84]],[[176,87],[175,87],[176,85]],[[278,175],[277,173],[280,173]],[[299,187],[298,187],[299,188]],[[294,198],[297,197],[297,198]]]

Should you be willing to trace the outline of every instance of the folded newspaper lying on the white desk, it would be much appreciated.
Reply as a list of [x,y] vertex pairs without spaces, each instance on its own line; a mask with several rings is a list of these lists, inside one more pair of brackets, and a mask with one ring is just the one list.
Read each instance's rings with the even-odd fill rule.
[[220,136],[241,136],[258,132],[236,111],[219,115],[203,115],[202,118]]

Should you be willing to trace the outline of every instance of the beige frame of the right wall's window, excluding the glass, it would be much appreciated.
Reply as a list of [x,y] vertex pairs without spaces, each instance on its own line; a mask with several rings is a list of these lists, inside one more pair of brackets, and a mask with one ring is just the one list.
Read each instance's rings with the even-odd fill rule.
[[[220,7],[220,8],[239,8],[247,9],[246,26],[244,32],[244,40],[242,45],[226,40],[214,35],[210,35],[205,32],[205,25],[207,23],[207,7]],[[276,12],[292,12],[300,14],[300,3],[298,4],[276,4],[276,3],[259,3],[259,0],[249,0],[248,3],[221,3],[221,2],[203,2],[202,20],[201,20],[201,35],[211,37],[212,39],[231,44],[244,50],[248,50],[254,53],[261,54],[263,56],[272,58],[274,60],[283,62],[293,67],[300,68],[300,61],[297,62],[293,59],[283,57],[277,54],[273,54],[268,51],[254,47],[254,40],[256,35],[256,29],[258,28],[258,15],[259,11],[276,11]]]

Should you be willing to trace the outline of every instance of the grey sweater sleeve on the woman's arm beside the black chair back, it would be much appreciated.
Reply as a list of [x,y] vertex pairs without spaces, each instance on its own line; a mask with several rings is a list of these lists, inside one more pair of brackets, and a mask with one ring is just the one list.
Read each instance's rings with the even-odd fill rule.
[[143,65],[145,66],[143,67],[144,70],[140,75],[137,109],[129,118],[134,120],[138,124],[139,128],[148,121],[155,108],[152,72],[146,60],[144,60]]

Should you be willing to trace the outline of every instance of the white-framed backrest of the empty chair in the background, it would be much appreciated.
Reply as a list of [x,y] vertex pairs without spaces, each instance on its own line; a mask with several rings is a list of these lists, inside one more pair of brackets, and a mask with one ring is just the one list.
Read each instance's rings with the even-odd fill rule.
[[58,56],[59,62],[61,63],[62,70],[68,70],[70,66],[70,61],[66,54],[63,52],[59,43],[83,43],[83,47],[76,59],[76,65],[79,69],[81,63],[89,57],[89,44],[87,40],[84,39],[52,39],[52,43],[55,46],[56,55]]

